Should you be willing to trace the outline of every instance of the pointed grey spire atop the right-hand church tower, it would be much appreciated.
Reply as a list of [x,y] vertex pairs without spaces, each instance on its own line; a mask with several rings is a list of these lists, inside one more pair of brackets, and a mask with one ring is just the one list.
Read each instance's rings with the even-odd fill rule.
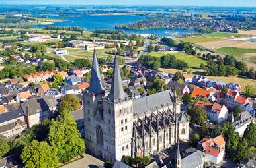
[[119,99],[125,99],[126,97],[127,95],[124,92],[124,87],[122,86],[122,78],[116,56],[114,57],[114,72],[111,84],[111,91],[108,94],[108,98],[112,101],[117,101]]

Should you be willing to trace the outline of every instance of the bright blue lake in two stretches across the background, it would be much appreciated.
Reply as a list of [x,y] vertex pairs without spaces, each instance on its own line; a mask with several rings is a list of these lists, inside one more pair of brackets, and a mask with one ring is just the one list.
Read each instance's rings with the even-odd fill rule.
[[[45,15],[43,15],[45,16]],[[70,16],[52,16],[49,18],[58,18],[68,20],[66,22],[54,22],[52,26],[78,26],[86,28],[87,30],[114,30],[116,24],[134,23],[136,20],[142,20],[144,16],[128,16],[128,15],[81,15],[81,17]],[[38,25],[37,28],[43,28],[48,25]],[[125,30],[126,33],[135,34],[158,34],[158,36],[171,36],[164,34],[165,32],[179,32],[179,34],[196,32],[195,30],[168,30],[168,29],[154,29],[154,30]]]

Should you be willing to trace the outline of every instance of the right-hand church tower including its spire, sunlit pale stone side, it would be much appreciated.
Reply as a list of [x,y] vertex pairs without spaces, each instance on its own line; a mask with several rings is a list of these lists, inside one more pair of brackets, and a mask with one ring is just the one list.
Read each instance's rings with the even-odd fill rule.
[[121,161],[125,155],[131,155],[132,140],[132,99],[128,98],[122,86],[122,78],[117,56],[114,58],[114,72],[111,90],[103,99],[104,119],[109,123],[106,142],[110,161]]

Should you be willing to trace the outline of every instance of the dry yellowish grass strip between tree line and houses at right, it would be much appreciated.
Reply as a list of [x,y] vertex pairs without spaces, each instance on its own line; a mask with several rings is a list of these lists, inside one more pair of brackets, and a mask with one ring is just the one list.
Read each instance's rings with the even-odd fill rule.
[[[167,72],[167,73],[171,73],[171,74],[175,74],[175,72],[179,71],[177,69],[162,69],[162,68],[160,68],[158,70]],[[189,69],[188,69],[188,71],[189,71]],[[202,70],[202,69],[191,69],[190,75],[191,76],[193,76],[193,75],[206,76],[206,72],[205,72],[205,70]],[[234,84],[240,84],[242,92],[245,92],[245,86],[247,86],[248,84],[252,85],[252,86],[256,86],[256,80],[248,79],[245,76],[240,76],[240,75],[227,76],[227,77],[226,76],[206,76],[206,78],[208,78],[210,80],[212,80],[212,79],[222,80],[223,82],[226,82],[226,83],[232,82]],[[254,88],[253,94],[256,94],[256,88]]]

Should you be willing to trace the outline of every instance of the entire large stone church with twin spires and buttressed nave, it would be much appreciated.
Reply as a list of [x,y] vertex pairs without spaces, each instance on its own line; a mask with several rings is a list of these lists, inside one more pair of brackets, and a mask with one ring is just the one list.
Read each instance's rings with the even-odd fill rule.
[[[105,90],[96,52],[89,90],[83,92],[87,149],[108,161],[153,154],[179,139],[189,140],[189,119],[181,113],[181,99],[171,90],[140,99],[128,98],[114,59],[111,90]],[[131,146],[131,143],[133,144]]]

